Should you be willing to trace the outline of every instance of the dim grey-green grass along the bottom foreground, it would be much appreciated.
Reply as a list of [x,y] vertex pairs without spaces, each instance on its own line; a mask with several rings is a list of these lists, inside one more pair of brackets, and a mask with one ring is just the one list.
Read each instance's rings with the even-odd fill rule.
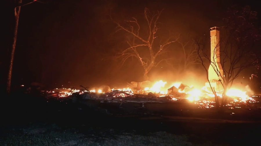
[[[44,129],[44,130],[43,130]],[[104,133],[103,129],[89,134],[78,133],[73,128],[60,128],[51,125],[30,125],[9,130],[0,138],[3,146],[204,146],[216,145],[211,142],[192,143],[189,135],[176,135],[167,132],[151,132],[137,134],[134,132],[118,132],[113,129]],[[97,130],[97,129],[96,129]]]

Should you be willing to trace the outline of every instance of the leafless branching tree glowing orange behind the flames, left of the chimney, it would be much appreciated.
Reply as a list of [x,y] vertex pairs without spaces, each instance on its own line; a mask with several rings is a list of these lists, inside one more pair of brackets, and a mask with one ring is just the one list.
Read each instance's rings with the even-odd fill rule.
[[148,8],[145,8],[145,25],[139,23],[134,17],[132,20],[125,21],[127,23],[125,25],[114,21],[117,25],[116,32],[124,31],[129,35],[129,37],[126,37],[129,47],[123,49],[117,57],[122,60],[122,63],[131,57],[136,58],[144,69],[145,80],[148,80],[148,72],[165,60],[161,59],[160,56],[166,53],[168,46],[179,38],[179,36],[171,37],[171,33],[167,38],[160,36],[160,23],[158,20],[161,13],[162,10],[152,14]]

